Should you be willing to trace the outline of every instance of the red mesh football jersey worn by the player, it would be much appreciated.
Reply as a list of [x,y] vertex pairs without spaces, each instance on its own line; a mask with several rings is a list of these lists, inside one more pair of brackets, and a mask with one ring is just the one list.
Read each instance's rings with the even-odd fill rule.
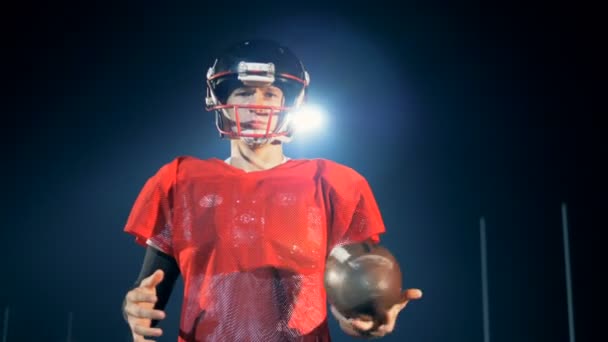
[[179,264],[179,342],[329,341],[326,255],[378,242],[384,223],[367,181],[335,162],[248,173],[179,157],[148,179],[125,231]]

